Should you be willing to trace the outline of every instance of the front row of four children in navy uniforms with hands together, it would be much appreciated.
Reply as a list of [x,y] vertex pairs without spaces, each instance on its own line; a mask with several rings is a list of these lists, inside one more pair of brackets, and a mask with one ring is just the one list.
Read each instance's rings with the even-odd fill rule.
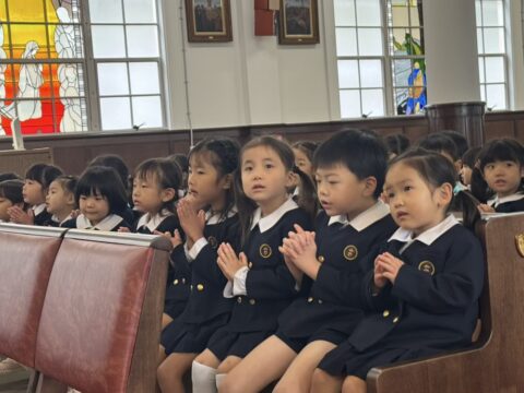
[[[388,162],[382,142],[368,132],[333,136],[314,153],[312,162],[306,154],[315,168],[323,207],[313,233],[313,188],[299,169],[297,150],[294,156],[286,143],[262,138],[248,143],[240,155],[233,142],[222,139],[203,141],[191,151],[189,196],[177,205],[183,230],[169,235],[177,246],[174,253],[179,250],[171,261],[175,270],[182,271],[180,276],[171,276],[169,286],[184,287],[186,298],[180,299],[182,306],[163,332],[160,354],[165,359],[158,381],[164,392],[183,391],[182,376],[191,366],[195,391],[215,391],[224,378],[223,391],[258,391],[283,374],[277,391],[293,386],[308,391],[324,355],[320,368],[327,373],[317,371],[313,388],[317,380],[336,384],[338,376],[349,374],[346,384],[361,389],[360,382],[373,365],[467,345],[471,340],[481,287],[481,253],[469,233],[446,215],[451,200],[463,198],[462,193],[453,196],[456,169],[451,159],[426,151],[395,158],[385,179],[386,201],[400,198],[396,194],[402,198],[400,207],[391,204],[390,216],[378,199]],[[302,175],[298,203],[288,198],[297,172]],[[148,188],[139,179],[134,177],[133,195],[139,194],[135,189]],[[394,192],[388,192],[388,187]],[[143,204],[139,198],[133,200],[139,207]],[[401,226],[397,231],[393,221]],[[455,248],[461,241],[472,247],[467,255],[458,255],[465,261],[456,271],[448,272],[451,278],[448,273],[441,275],[448,269],[442,258],[422,260],[450,252],[450,258],[458,258]],[[183,249],[186,252],[180,252]],[[457,282],[457,277],[464,278],[463,269],[468,270],[466,283]],[[450,290],[460,289],[460,299],[439,293],[439,279]],[[417,290],[428,293],[426,298],[413,297],[410,286],[417,285]],[[418,310],[425,301],[426,311],[409,311],[410,306]],[[394,332],[377,324],[378,314],[372,313],[370,320],[366,317],[390,303],[388,315],[383,311],[378,321],[391,314],[392,326],[405,326]],[[396,310],[395,303],[403,306]],[[433,307],[448,317],[437,318]],[[455,318],[461,312],[463,318]],[[418,332],[433,320],[429,335],[428,331]],[[439,335],[450,329],[456,333],[452,340]],[[367,335],[377,330],[379,335]],[[397,331],[402,332],[398,337]],[[425,341],[425,334],[437,342]],[[414,350],[406,349],[405,336],[417,337],[408,346]],[[344,359],[355,357],[352,350],[361,357],[348,365]],[[355,369],[357,364],[360,368]],[[336,378],[330,380],[326,374]]]

